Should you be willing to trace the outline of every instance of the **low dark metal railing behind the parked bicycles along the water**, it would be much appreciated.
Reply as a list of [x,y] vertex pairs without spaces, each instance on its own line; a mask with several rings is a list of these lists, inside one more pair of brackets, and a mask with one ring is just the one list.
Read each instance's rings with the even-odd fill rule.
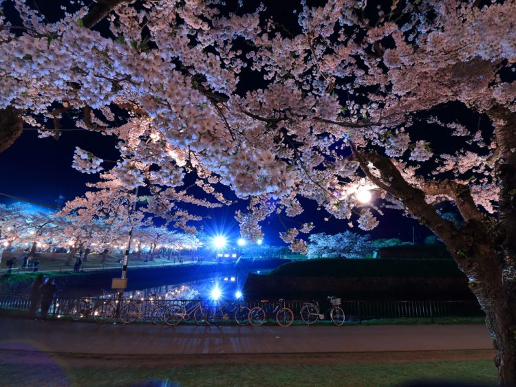
[[[67,316],[74,306],[76,300],[87,300],[91,305],[98,305],[100,302],[111,300],[117,302],[115,296],[95,298],[69,298],[58,296],[52,302],[50,313],[56,317]],[[138,302],[142,310],[152,309],[155,305],[169,306],[173,304],[191,305],[199,300],[178,300],[154,298],[142,300],[136,298],[125,298],[124,302]],[[223,305],[235,305],[235,300],[211,301],[202,300],[202,304],[220,308]],[[299,312],[307,301],[286,300],[286,307],[292,309],[295,318],[299,318]],[[242,300],[240,305],[249,308],[266,307],[275,304],[275,301],[266,300]],[[30,296],[18,294],[0,294],[0,309],[26,311],[30,307]],[[445,301],[369,301],[369,300],[343,300],[341,308],[345,312],[346,320],[367,320],[376,318],[442,318],[442,317],[481,317],[484,312],[475,300],[445,300]],[[268,308],[270,309],[270,308]],[[320,311],[326,311],[327,305],[321,305]]]

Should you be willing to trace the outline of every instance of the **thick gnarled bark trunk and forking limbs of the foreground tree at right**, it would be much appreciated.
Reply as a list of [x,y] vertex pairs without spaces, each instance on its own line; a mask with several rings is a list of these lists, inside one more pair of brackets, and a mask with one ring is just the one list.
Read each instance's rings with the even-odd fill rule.
[[[470,289],[486,313],[486,327],[496,350],[500,385],[516,385],[516,115],[495,107],[488,111],[495,128],[495,175],[499,192],[499,217],[487,217],[474,206],[466,186],[451,181],[432,182],[425,190],[411,186],[390,159],[374,151],[354,155],[364,173],[378,187],[394,195],[407,210],[443,242],[459,268],[469,278]],[[371,173],[368,163],[379,171]],[[464,223],[456,228],[442,219],[425,195],[439,190],[451,197]]]

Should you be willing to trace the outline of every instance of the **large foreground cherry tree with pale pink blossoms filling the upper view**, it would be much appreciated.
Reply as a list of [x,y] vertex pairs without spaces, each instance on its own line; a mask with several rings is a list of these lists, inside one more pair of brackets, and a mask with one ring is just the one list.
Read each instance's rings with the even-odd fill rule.
[[[398,208],[468,276],[499,382],[516,383],[515,1],[331,0],[301,3],[293,23],[274,3],[98,0],[55,23],[9,4],[21,25],[0,15],[2,148],[23,125],[57,139],[68,111],[119,139],[114,163],[77,149],[75,168],[105,172],[67,210],[129,214],[143,187],[142,211],[193,231],[175,203],[228,203],[224,184],[249,200],[237,220],[257,239],[270,214],[301,214],[300,197],[363,230]],[[310,230],[281,237],[306,252]]]

